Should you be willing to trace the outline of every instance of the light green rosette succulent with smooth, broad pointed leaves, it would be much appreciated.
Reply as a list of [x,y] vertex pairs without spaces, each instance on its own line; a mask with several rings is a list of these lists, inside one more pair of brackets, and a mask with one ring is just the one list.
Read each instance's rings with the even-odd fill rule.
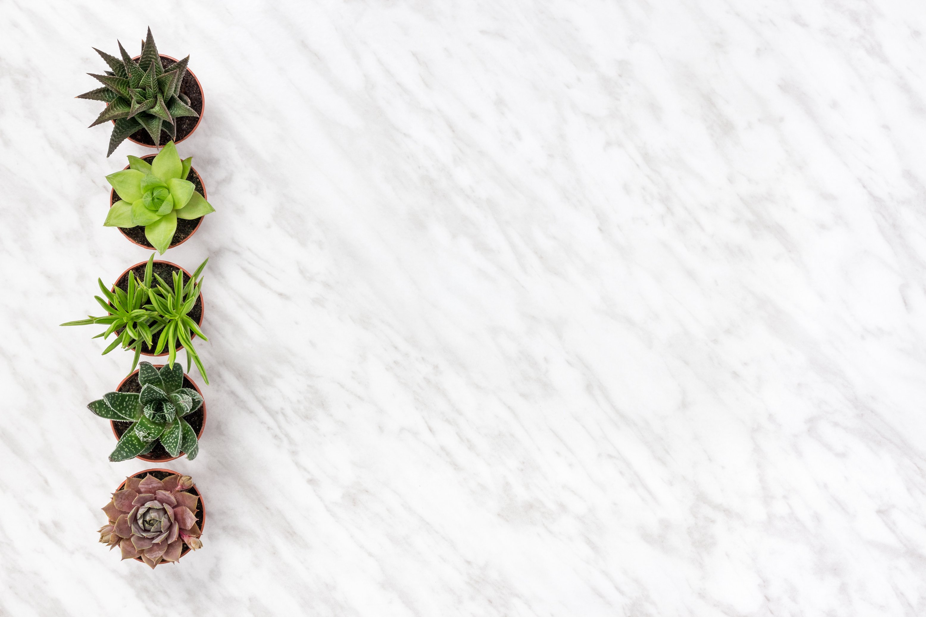
[[181,160],[174,142],[155,156],[149,165],[137,156],[129,156],[129,169],[106,176],[119,195],[109,208],[107,227],[144,226],[144,237],[158,253],[164,254],[177,230],[177,218],[199,218],[215,212],[206,199],[194,191],[186,179],[193,157]]

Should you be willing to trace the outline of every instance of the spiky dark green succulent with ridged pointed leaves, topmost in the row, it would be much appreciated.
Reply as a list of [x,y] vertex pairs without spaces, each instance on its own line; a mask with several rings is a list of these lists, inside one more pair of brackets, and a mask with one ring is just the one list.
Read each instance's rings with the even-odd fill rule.
[[106,61],[110,70],[105,75],[88,73],[99,80],[103,87],[80,94],[77,98],[106,103],[106,109],[90,125],[94,127],[110,120],[115,121],[106,156],[113,154],[119,143],[136,130],[146,130],[155,145],[160,145],[162,129],[170,137],[176,136],[174,118],[199,116],[190,106],[190,99],[180,92],[190,56],[165,71],[150,28],[137,62],[125,51],[122,43],[119,43],[121,58],[110,56],[95,47],[94,51]]

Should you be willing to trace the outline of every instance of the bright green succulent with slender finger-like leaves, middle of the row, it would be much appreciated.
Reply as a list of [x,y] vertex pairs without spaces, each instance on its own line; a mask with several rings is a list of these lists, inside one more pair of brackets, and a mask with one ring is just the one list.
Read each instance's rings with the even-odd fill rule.
[[106,331],[97,334],[94,339],[101,337],[106,339],[115,332],[116,339],[106,347],[103,354],[106,355],[113,351],[119,344],[124,350],[134,351],[134,359],[129,369],[130,374],[135,370],[139,357],[141,357],[143,343],[148,347],[154,346],[155,354],[167,349],[169,365],[174,364],[177,349],[182,346],[186,350],[187,371],[189,372],[192,361],[196,364],[199,374],[203,376],[203,380],[208,384],[209,378],[194,349],[192,335],[195,334],[203,340],[208,339],[189,314],[202,289],[203,280],[200,275],[209,260],[206,259],[200,264],[185,284],[183,273],[180,270],[174,270],[172,285],[153,271],[154,261],[155,253],[151,253],[148,263],[144,266],[142,280],[138,280],[133,272],[129,272],[128,291],[123,291],[119,287],[115,287],[112,291],[107,290],[103,281],[97,279],[106,300],[99,296],[94,296],[94,298],[108,315],[102,317],[88,315],[86,319],[69,321],[61,325],[101,324],[108,326]]

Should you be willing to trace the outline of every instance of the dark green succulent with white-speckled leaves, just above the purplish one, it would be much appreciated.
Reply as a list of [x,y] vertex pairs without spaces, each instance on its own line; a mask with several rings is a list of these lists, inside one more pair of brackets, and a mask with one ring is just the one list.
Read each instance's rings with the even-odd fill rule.
[[183,388],[180,364],[165,364],[158,371],[151,363],[138,365],[141,392],[107,392],[87,407],[107,420],[131,422],[119,438],[116,450],[109,455],[113,462],[126,461],[147,454],[158,441],[170,456],[186,452],[191,461],[199,451],[193,426],[183,416],[203,404],[203,397],[192,388]]

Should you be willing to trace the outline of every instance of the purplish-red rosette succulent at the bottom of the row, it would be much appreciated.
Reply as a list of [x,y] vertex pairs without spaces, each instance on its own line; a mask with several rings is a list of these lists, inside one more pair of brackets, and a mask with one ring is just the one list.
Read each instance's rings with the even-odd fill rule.
[[122,559],[141,557],[154,568],[160,561],[180,560],[183,544],[201,549],[202,531],[196,524],[199,498],[184,492],[193,487],[189,475],[154,475],[126,478],[103,508],[108,523],[100,527],[100,542],[119,546]]

